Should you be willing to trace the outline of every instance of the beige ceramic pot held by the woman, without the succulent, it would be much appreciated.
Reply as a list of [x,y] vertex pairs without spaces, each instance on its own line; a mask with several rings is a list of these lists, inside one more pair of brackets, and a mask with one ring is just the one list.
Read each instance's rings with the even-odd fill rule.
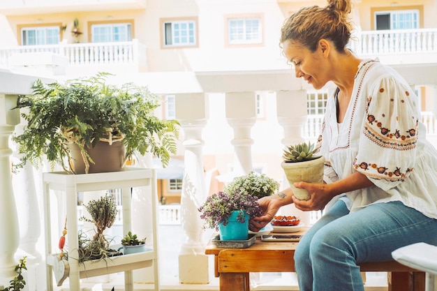
[[325,157],[320,156],[311,161],[286,163],[282,162],[281,167],[286,174],[288,183],[292,188],[293,194],[299,200],[309,200],[308,191],[293,186],[295,182],[304,181],[308,183],[323,183],[323,166]]

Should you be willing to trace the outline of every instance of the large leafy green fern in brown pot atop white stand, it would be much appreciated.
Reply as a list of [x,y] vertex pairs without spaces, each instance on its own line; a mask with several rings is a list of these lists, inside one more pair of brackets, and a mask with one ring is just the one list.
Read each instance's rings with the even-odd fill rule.
[[[179,123],[154,117],[160,103],[147,87],[108,84],[108,75],[51,84],[37,80],[33,96],[20,96],[17,108],[27,110],[22,113],[27,126],[13,136],[22,157],[16,166],[29,161],[38,167],[47,156],[52,169],[59,164],[73,174],[113,172],[137,152],[151,152],[168,165],[176,154]],[[114,165],[102,167],[112,161],[107,154],[112,149]],[[92,156],[96,152],[100,158]]]

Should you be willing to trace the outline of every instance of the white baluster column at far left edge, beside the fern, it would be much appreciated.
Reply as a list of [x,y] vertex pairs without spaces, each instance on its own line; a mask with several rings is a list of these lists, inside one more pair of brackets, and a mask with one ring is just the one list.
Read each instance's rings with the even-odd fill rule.
[[[17,95],[0,94],[0,285],[9,285],[15,276],[15,252],[17,251],[20,230],[18,227],[17,208],[13,192],[9,147],[10,135],[15,126],[20,124],[20,111],[11,110],[17,104]],[[7,238],[7,239],[6,239]]]

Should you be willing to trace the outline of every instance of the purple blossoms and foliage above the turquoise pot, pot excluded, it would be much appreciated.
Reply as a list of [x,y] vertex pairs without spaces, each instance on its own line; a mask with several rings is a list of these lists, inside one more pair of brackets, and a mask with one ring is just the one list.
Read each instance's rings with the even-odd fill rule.
[[207,197],[205,203],[198,208],[201,213],[200,218],[205,221],[203,227],[214,228],[214,230],[218,230],[220,223],[227,225],[230,214],[235,210],[239,211],[237,220],[242,223],[244,222],[244,212],[250,218],[260,216],[261,209],[258,197],[237,191],[230,194],[218,192]]

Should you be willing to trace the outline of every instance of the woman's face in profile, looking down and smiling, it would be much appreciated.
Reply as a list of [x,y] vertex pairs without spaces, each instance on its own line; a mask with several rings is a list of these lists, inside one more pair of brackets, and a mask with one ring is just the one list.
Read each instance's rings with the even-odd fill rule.
[[329,81],[327,63],[323,54],[323,47],[311,52],[299,43],[286,40],[282,43],[283,54],[295,67],[296,77],[303,77],[314,89],[321,89]]

